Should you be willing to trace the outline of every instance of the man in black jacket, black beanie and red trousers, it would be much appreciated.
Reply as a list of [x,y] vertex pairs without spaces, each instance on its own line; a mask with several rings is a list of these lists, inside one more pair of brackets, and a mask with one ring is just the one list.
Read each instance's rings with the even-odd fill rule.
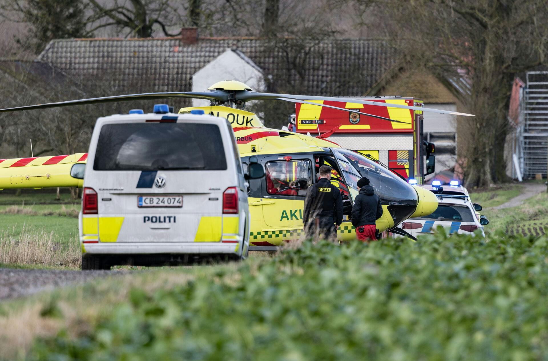
[[361,241],[376,241],[375,221],[383,215],[379,196],[369,185],[369,179],[358,181],[359,194],[352,206],[352,225],[356,228],[356,238]]

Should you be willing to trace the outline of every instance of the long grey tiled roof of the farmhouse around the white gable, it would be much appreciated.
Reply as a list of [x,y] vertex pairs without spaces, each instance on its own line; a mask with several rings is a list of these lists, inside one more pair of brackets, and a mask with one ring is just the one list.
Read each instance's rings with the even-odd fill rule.
[[[67,74],[113,76],[123,87],[129,77],[151,77],[147,91],[191,91],[192,76],[225,53],[237,50],[265,75],[284,74],[314,95],[361,95],[386,74],[395,50],[382,41],[283,38],[180,37],[53,40],[38,56]],[[306,70],[306,74],[299,74]],[[345,86],[341,78],[350,80]],[[145,90],[145,89],[144,89]]]

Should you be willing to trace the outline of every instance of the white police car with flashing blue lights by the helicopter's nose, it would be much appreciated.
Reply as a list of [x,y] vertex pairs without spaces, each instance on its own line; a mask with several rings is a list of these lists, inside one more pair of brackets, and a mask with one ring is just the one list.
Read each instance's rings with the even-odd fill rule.
[[482,206],[471,202],[466,188],[458,181],[451,181],[448,185],[442,185],[440,181],[432,181],[431,185],[420,185],[436,194],[438,207],[436,211],[427,216],[409,218],[402,222],[400,227],[410,235],[431,233],[441,225],[449,230],[449,233],[472,234],[489,223],[486,216],[479,216]]

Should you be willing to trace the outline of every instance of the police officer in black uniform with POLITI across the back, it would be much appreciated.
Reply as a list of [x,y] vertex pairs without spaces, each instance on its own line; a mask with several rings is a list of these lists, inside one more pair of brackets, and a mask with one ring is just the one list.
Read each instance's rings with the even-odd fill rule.
[[306,194],[302,223],[309,237],[315,235],[317,230],[326,239],[336,237],[336,230],[343,222],[343,198],[339,188],[329,181],[330,178],[331,167],[319,167],[319,181]]

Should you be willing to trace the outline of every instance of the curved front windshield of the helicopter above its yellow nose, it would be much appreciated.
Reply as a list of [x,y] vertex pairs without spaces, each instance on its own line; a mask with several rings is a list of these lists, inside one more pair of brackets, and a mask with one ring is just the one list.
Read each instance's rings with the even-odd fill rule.
[[[381,201],[416,206],[418,202],[416,191],[403,179],[397,177],[396,174],[354,151],[347,149],[333,149],[333,151],[343,170],[346,165],[350,165],[353,168],[353,174],[359,174],[359,176],[369,179],[370,185],[372,185]],[[357,177],[347,178],[359,179]],[[347,181],[352,183],[353,179],[347,179]]]

